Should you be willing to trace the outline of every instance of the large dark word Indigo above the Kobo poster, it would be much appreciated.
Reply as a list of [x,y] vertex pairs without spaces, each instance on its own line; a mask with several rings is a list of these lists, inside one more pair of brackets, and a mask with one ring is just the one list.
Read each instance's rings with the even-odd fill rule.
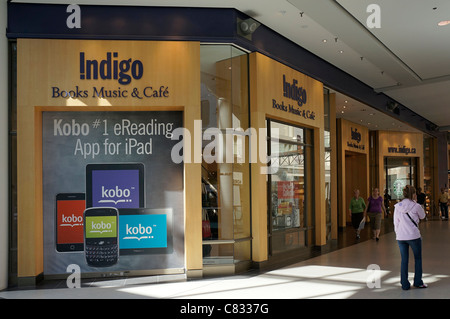
[[[112,56],[112,57],[111,57]],[[131,78],[139,80],[144,74],[144,65],[140,60],[126,59],[119,61],[117,52],[107,52],[106,59],[86,60],[85,53],[80,52],[80,79],[81,80],[118,80],[120,84],[126,85],[131,83]],[[131,75],[128,74],[131,72]]]

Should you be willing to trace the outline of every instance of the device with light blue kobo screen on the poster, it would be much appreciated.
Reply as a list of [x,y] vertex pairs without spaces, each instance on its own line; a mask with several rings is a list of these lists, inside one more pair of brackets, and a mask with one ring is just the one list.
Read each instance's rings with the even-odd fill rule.
[[120,255],[171,254],[171,208],[119,209]]

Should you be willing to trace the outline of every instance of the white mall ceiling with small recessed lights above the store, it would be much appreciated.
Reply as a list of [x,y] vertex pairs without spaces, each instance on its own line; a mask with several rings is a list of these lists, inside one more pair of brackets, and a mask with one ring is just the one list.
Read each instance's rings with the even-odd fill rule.
[[[449,0],[84,0],[76,3],[236,8],[375,91],[450,130],[450,25],[437,25],[442,20],[450,20]],[[381,9],[378,29],[370,29],[366,23],[371,14],[367,7],[372,3]],[[351,99],[339,95],[337,100]],[[369,127],[379,125],[371,129],[383,126],[409,130],[407,125],[373,112],[357,101],[352,100],[353,107],[347,108],[344,114],[340,104],[338,116],[354,122],[363,120]],[[376,115],[368,117],[360,111],[362,108]],[[373,120],[369,122],[367,118]],[[378,124],[373,124],[375,118]]]

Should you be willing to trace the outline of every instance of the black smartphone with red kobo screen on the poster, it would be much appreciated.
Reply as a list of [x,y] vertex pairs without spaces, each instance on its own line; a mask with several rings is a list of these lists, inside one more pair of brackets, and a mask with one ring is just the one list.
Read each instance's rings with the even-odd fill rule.
[[57,194],[55,207],[56,251],[83,251],[83,212],[86,209],[84,193]]

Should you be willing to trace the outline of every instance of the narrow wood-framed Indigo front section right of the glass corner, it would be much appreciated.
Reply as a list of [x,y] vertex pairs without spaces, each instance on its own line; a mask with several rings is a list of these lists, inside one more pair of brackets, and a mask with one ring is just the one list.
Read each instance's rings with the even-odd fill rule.
[[[267,127],[270,162],[252,164],[253,261],[326,244],[322,83],[261,54],[250,56],[252,127]],[[275,169],[262,174],[262,169]]]

